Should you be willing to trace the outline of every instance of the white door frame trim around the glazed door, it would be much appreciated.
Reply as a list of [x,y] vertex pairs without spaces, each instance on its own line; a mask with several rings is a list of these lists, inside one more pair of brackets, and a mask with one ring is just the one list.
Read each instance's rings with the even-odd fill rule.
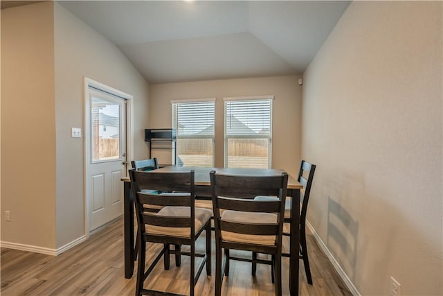
[[[88,129],[89,123],[89,115],[87,115],[87,112],[89,112],[89,107],[87,105],[89,101],[89,87],[94,87],[96,89],[100,89],[105,92],[109,92],[110,94],[114,94],[115,96],[119,96],[120,98],[123,98],[126,100],[126,162],[127,164],[130,164],[130,160],[134,159],[134,97],[131,94],[127,94],[125,92],[122,92],[118,89],[115,89],[114,87],[110,87],[109,85],[105,85],[102,82],[98,82],[96,80],[93,80],[88,77],[84,77],[84,141],[83,141],[83,182],[84,182],[84,235],[89,237],[91,234],[90,223],[91,223],[91,217],[89,217],[89,212],[91,210],[91,194],[89,193],[89,182],[87,180],[87,177],[89,175],[89,162],[88,162],[88,149],[87,146],[87,137],[90,137],[91,131]],[[124,176],[127,175],[127,171],[125,171]],[[122,182],[123,186],[123,182]]]

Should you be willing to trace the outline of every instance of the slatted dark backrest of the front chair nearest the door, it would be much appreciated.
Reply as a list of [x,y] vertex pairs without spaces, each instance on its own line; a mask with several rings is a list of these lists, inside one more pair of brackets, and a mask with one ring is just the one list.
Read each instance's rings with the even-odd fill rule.
[[[154,173],[129,170],[132,193],[136,205],[138,229],[141,234],[146,232],[146,227],[186,227],[190,230],[190,239],[195,239],[195,173]],[[156,189],[160,194],[143,191]],[[154,214],[147,211],[150,206],[161,206],[164,214]],[[181,207],[188,207],[186,214],[174,216],[168,212]],[[168,235],[165,233],[163,235]]]

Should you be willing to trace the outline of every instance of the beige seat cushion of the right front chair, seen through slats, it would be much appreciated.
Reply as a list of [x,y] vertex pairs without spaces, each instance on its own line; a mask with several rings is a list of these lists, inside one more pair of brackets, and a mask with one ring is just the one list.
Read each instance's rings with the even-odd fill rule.
[[[237,223],[277,223],[277,215],[271,213],[251,213],[245,211],[226,210],[221,214],[221,220]],[[221,232],[223,241],[235,243],[253,243],[259,245],[275,245],[275,236],[261,236],[255,234],[236,234],[234,232]]]

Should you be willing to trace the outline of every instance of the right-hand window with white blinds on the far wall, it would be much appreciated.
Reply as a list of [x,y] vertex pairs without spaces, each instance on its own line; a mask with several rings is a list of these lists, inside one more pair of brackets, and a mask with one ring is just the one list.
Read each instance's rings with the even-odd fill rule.
[[273,96],[224,98],[224,166],[271,168]]

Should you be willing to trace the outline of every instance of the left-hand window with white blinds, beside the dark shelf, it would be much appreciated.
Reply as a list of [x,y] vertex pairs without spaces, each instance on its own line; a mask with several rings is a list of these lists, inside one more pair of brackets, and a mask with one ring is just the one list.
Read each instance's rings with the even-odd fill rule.
[[172,101],[177,166],[214,166],[215,98]]

